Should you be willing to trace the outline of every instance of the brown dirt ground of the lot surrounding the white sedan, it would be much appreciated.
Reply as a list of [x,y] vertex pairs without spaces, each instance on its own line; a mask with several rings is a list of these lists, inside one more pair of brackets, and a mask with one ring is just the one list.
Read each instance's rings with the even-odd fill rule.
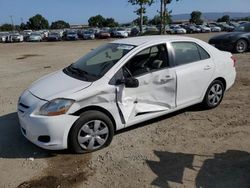
[[135,125],[103,150],[46,151],[21,135],[21,92],[106,42],[0,44],[0,187],[249,188],[250,53],[235,55],[236,83],[216,109],[190,107]]

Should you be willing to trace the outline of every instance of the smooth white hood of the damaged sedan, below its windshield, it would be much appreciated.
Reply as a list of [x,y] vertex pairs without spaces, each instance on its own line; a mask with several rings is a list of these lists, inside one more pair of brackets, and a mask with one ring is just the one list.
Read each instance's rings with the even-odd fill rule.
[[67,98],[70,94],[81,91],[91,84],[92,82],[72,78],[60,70],[35,81],[28,90],[38,98],[52,100]]

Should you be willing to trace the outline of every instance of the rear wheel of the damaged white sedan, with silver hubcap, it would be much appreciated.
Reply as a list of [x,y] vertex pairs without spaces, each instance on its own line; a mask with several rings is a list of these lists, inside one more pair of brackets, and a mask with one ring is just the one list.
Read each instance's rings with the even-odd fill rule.
[[[205,109],[212,109],[217,107],[224,96],[225,86],[220,80],[214,80],[208,87],[204,99],[202,101],[202,106]],[[214,97],[212,97],[214,96]],[[211,98],[212,97],[212,98]]]

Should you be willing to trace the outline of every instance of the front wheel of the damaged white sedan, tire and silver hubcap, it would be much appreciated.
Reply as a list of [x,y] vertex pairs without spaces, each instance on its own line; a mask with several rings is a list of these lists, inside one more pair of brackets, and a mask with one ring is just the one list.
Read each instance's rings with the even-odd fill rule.
[[88,153],[108,146],[114,126],[108,116],[99,111],[87,111],[73,125],[69,133],[69,148],[75,153]]

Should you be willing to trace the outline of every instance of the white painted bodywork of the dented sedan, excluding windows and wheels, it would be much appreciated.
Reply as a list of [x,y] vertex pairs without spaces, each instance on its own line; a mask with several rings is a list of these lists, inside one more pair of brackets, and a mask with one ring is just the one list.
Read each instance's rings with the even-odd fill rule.
[[[174,62],[173,45],[199,45],[209,54],[208,59],[179,66],[169,66],[136,77],[137,88],[113,84],[116,75],[136,54],[155,45],[166,46],[169,62]],[[100,79],[88,82],[73,78],[63,70],[42,77],[26,89],[18,101],[18,117],[23,135],[34,144],[46,149],[68,148],[70,129],[83,109],[102,109],[115,124],[115,130],[138,124],[203,101],[206,90],[215,79],[225,82],[225,90],[235,81],[236,71],[231,53],[189,37],[147,36],[113,41],[122,48],[135,46]],[[128,45],[128,47],[127,47]],[[40,115],[41,107],[53,99],[75,102],[62,115]],[[41,136],[47,141],[39,141]]]

